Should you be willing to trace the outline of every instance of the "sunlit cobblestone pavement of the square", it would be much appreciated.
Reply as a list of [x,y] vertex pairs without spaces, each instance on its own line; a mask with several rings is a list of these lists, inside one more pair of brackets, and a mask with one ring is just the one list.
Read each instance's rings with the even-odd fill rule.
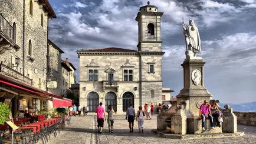
[[156,115],[151,120],[145,120],[144,133],[139,133],[137,122],[134,122],[134,132],[129,132],[129,123],[124,115],[114,116],[114,133],[109,133],[107,123],[104,122],[102,134],[97,134],[96,116],[93,113],[87,116],[71,118],[71,125],[61,131],[56,138],[49,140],[55,143],[256,143],[256,127],[238,125],[238,129],[245,132],[245,136],[235,138],[216,139],[166,139],[153,135],[151,129],[156,129]]

